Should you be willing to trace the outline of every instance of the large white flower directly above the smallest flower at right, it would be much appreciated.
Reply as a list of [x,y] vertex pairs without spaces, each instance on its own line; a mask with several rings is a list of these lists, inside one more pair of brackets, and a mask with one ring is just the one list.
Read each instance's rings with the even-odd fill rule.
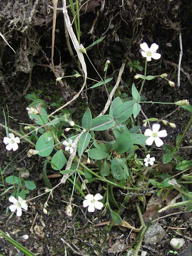
[[147,145],[152,145],[153,142],[155,142],[157,147],[160,147],[163,145],[163,141],[159,137],[166,137],[167,136],[167,131],[162,130],[159,131],[160,129],[160,124],[154,124],[152,126],[152,131],[150,129],[145,130],[145,136],[150,136],[147,140],[146,143]]

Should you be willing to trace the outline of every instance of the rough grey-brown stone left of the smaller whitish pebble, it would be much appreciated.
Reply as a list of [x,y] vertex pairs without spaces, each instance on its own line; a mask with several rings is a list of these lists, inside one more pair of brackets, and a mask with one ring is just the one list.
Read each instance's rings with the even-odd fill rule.
[[153,246],[156,244],[163,245],[166,241],[167,233],[160,225],[151,225],[144,236],[144,243],[146,246]]

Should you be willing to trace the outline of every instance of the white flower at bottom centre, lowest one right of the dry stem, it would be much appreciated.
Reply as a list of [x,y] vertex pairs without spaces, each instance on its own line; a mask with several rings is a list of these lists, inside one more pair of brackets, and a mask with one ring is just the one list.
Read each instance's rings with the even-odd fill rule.
[[100,195],[99,193],[96,195],[86,195],[85,199],[83,201],[83,207],[87,207],[88,206],[88,212],[94,212],[95,209],[102,209],[103,204],[101,202],[98,202],[99,200],[102,200],[102,195]]

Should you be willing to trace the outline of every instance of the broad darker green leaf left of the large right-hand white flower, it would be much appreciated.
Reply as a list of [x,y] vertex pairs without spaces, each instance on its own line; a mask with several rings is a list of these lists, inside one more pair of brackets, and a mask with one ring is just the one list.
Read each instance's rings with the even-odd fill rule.
[[133,142],[130,134],[121,134],[116,139],[115,151],[117,154],[128,152],[134,154]]

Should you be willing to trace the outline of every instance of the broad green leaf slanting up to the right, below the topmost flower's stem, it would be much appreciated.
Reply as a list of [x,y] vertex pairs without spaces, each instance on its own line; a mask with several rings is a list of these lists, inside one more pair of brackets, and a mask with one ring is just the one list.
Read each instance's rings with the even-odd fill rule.
[[133,113],[134,100],[125,102],[113,111],[113,118],[117,123],[125,122]]

